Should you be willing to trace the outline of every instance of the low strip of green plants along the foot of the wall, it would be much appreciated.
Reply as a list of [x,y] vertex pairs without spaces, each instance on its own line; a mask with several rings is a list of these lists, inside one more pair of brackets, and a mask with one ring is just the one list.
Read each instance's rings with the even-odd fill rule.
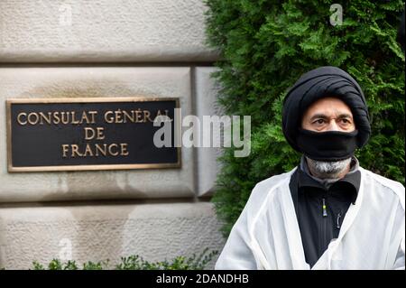
[[[208,265],[208,263],[218,254],[218,251],[214,250],[208,252],[205,249],[199,255],[192,255],[189,258],[184,256],[178,256],[168,261],[162,262],[148,262],[143,260],[143,257],[139,255],[130,255],[128,257],[122,257],[121,263],[114,265],[115,270],[202,270]],[[32,263],[33,270],[104,270],[109,269],[109,261],[103,262],[88,262],[79,266],[76,261],[61,262],[59,259],[53,259],[51,262],[44,266],[38,262]]]

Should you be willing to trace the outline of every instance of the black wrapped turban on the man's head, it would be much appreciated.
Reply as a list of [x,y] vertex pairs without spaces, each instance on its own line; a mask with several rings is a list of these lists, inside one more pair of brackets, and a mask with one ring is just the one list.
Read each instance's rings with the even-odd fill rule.
[[296,142],[301,117],[312,103],[325,97],[339,98],[350,107],[355,128],[358,130],[357,147],[364,146],[371,134],[364,93],[346,71],[331,66],[307,72],[289,90],[282,110],[282,131],[288,143],[295,150],[302,152]]

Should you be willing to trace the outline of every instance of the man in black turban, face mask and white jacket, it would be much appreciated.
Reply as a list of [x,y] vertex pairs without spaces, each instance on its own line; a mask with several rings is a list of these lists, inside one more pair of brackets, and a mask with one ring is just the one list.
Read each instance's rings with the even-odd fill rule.
[[304,74],[282,128],[300,165],[254,187],[216,269],[404,269],[404,187],[354,156],[371,133],[355,79],[335,67]]

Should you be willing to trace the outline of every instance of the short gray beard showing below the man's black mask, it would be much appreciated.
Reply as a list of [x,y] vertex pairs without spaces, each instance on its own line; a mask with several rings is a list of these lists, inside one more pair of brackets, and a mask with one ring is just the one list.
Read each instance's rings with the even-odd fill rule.
[[345,160],[325,162],[312,160],[306,157],[309,171],[314,173],[315,177],[319,179],[337,179],[339,175],[346,171],[348,165],[351,163],[351,157]]

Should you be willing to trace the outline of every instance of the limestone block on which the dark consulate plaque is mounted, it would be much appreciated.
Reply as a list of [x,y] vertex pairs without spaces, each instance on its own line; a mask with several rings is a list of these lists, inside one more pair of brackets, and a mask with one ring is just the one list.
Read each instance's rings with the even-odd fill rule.
[[193,197],[192,148],[181,168],[94,172],[7,172],[9,98],[180,98],[190,114],[189,68],[1,68],[0,202]]

